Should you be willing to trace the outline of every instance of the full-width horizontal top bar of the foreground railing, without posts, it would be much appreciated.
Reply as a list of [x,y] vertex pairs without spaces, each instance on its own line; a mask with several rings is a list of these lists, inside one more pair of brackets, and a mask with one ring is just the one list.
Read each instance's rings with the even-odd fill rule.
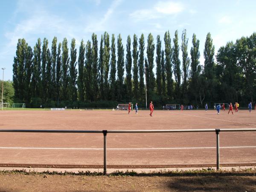
[[[221,132],[256,131],[256,128],[219,129]],[[108,130],[107,133],[185,133],[185,132],[215,132],[216,129],[155,129],[155,130]],[[0,129],[0,132],[20,133],[103,133],[103,130],[29,130],[29,129]]]

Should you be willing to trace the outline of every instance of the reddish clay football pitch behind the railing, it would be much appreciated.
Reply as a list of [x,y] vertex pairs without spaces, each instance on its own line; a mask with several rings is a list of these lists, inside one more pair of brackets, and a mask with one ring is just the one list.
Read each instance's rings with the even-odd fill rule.
[[[256,128],[256,111],[0,111],[0,129],[151,130]],[[256,163],[256,131],[221,132],[220,163]],[[210,165],[215,132],[107,135],[109,167]],[[0,133],[0,166],[103,165],[103,134]]]

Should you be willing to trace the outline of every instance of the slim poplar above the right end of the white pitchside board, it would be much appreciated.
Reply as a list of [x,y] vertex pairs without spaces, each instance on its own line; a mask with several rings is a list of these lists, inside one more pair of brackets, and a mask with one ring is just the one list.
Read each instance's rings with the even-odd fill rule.
[[68,82],[69,82],[69,62],[70,58],[68,55],[67,38],[62,41],[62,56],[61,56],[61,81],[62,81],[62,98],[68,100]]

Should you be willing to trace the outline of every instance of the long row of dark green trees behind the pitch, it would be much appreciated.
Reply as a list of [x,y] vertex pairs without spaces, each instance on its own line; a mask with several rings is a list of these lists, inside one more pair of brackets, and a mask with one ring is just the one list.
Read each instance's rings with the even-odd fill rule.
[[186,29],[181,44],[178,36],[176,30],[172,39],[167,31],[163,44],[160,35],[155,44],[151,33],[147,39],[134,34],[131,40],[128,35],[125,47],[121,34],[116,39],[105,32],[98,43],[93,33],[91,40],[81,40],[79,53],[74,38],[70,49],[67,38],[58,43],[54,37],[51,47],[46,38],[38,38],[33,49],[24,38],[19,39],[13,64],[15,101],[31,107],[82,107],[102,101],[105,105],[144,105],[145,84],[148,101],[153,100],[155,106],[256,99],[256,33],[228,42],[216,55],[208,33],[204,65],[199,62],[200,41],[196,35],[192,36],[190,54]]

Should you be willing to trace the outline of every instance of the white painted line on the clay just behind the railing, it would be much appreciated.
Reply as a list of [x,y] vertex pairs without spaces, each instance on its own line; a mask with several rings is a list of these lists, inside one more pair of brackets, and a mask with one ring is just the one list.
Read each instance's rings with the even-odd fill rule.
[[[107,150],[172,150],[172,149],[211,149],[216,147],[175,147],[175,148],[107,148]],[[231,146],[220,148],[256,148],[256,146]],[[0,149],[46,149],[46,150],[103,150],[103,148],[42,148],[42,147],[0,147]]]

